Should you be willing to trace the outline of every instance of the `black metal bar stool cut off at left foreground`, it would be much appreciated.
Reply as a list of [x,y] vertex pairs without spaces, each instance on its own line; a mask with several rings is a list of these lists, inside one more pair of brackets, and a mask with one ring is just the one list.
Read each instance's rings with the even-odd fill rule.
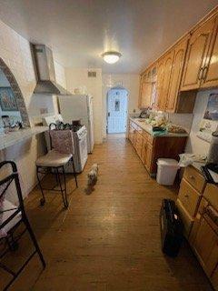
[[[7,272],[10,276],[12,276],[12,278],[10,278],[9,282],[3,288],[3,290],[7,290],[7,288],[11,286],[11,284],[15,281],[16,277],[21,274],[25,266],[28,264],[31,258],[35,256],[35,254],[39,256],[43,268],[45,268],[45,259],[38,246],[33,229],[25,214],[25,206],[23,202],[19,176],[17,173],[17,167],[12,161],[1,162],[0,169],[3,166],[11,166],[12,169],[12,173],[0,181],[0,242],[2,243],[2,241],[5,240],[4,243],[5,246],[7,246],[1,251],[0,267],[4,269],[5,272]],[[13,184],[15,184],[15,194],[18,198],[18,205],[14,205],[6,199],[6,194],[8,193],[7,189]],[[25,225],[25,229],[22,230],[22,232],[19,232],[19,234],[15,234],[15,229],[20,226],[21,223]],[[28,232],[31,241],[35,246],[35,250],[30,256],[28,256],[28,258],[25,260],[25,263],[20,266],[17,271],[15,271],[10,266],[5,266],[5,264],[3,264],[1,260],[9,251],[16,251],[16,249],[19,247],[18,241],[21,236],[25,234],[25,232]]]

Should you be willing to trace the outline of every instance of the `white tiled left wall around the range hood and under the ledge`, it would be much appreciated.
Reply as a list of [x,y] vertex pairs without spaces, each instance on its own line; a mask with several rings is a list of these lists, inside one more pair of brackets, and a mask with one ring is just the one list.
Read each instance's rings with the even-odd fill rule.
[[[15,75],[24,95],[31,123],[33,124],[35,120],[41,120],[40,108],[47,107],[49,112],[54,113],[56,110],[55,97],[33,95],[35,71],[29,42],[0,21],[0,44],[0,57]],[[57,82],[63,84],[64,68],[61,68],[60,65],[56,66],[56,70],[59,71]],[[61,78],[61,80],[58,78]],[[25,196],[35,186],[35,160],[37,156],[41,156],[44,152],[44,135],[36,135],[29,140],[0,151],[1,161],[11,159],[17,164]]]

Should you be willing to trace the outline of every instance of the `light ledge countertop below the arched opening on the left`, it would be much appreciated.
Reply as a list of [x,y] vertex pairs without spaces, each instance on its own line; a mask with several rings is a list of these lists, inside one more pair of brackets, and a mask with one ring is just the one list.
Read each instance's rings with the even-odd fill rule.
[[15,144],[23,141],[24,139],[30,138],[33,135],[44,133],[47,130],[48,130],[47,126],[35,126],[19,129],[18,131],[9,132],[8,134],[5,135],[0,135],[0,150],[8,146],[14,146]]

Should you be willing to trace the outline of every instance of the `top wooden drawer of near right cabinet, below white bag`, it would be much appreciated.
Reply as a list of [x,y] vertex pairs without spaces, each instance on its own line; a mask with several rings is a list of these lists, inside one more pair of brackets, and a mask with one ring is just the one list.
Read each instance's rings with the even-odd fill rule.
[[197,189],[200,193],[203,192],[205,180],[193,166],[187,166],[184,169],[183,176],[195,189]]

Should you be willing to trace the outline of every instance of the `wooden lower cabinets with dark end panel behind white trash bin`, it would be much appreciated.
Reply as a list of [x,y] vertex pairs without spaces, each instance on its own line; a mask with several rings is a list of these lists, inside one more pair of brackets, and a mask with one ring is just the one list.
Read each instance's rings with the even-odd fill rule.
[[186,137],[150,135],[133,120],[129,122],[128,138],[133,144],[137,155],[151,176],[157,171],[157,159],[161,157],[178,159],[183,153]]

